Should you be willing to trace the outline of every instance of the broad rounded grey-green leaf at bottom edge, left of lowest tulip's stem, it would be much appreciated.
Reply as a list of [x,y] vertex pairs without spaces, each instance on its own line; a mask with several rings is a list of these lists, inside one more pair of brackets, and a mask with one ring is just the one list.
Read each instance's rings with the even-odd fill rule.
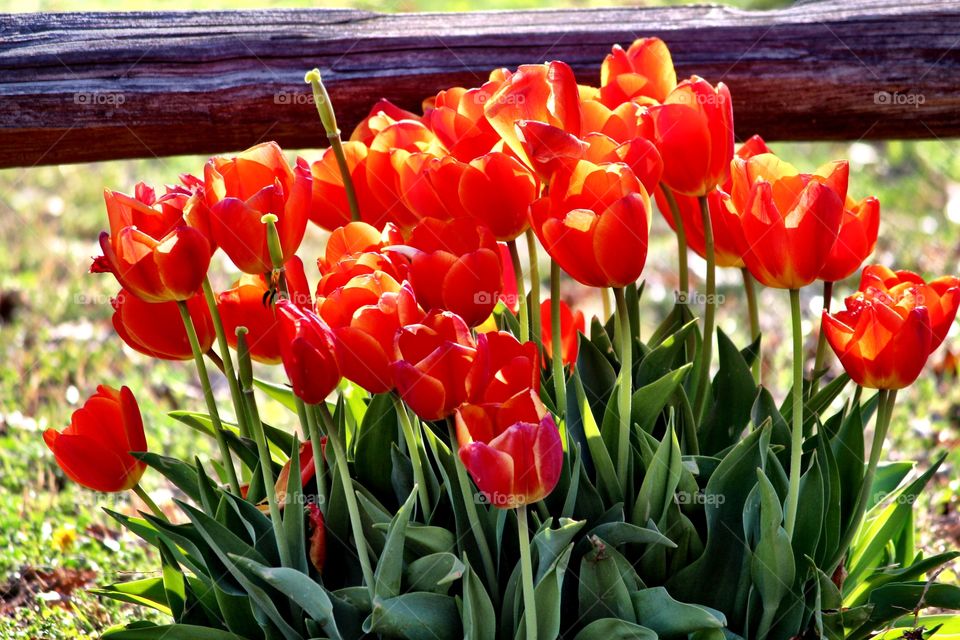
[[374,603],[373,611],[363,622],[363,630],[405,640],[463,637],[456,601],[450,596],[423,592],[405,593]]

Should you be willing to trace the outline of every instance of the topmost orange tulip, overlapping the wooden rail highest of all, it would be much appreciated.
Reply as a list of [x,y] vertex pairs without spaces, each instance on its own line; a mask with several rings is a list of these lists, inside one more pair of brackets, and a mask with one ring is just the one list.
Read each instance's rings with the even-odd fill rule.
[[670,50],[660,38],[640,38],[624,51],[615,44],[600,67],[600,100],[614,109],[623,103],[664,102],[677,86]]

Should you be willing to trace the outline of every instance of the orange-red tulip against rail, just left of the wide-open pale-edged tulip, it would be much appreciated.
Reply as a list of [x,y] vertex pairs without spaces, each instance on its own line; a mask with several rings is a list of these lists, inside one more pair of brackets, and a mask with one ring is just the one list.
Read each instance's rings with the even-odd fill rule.
[[423,123],[457,160],[470,162],[488,153],[500,140],[487,122],[483,106],[503,84],[504,72],[494,71],[478,88],[452,87],[441,91],[424,108]]

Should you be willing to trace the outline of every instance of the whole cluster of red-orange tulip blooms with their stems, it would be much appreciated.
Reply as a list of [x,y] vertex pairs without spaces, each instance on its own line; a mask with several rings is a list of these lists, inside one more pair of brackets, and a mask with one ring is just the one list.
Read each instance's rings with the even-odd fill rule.
[[[276,144],[265,143],[214,157],[202,177],[181,176],[162,194],[143,184],[133,195],[106,192],[110,229],[100,237],[103,255],[92,271],[112,274],[121,286],[114,327],[139,352],[195,361],[224,482],[246,495],[255,470],[236,469],[207,361],[223,372],[238,434],[257,444],[278,539],[282,483],[270,463],[251,360],[282,363],[310,441],[303,470],[313,461],[320,477],[323,456],[313,452],[329,444],[345,488],[351,486],[345,434],[327,403],[344,380],[370,394],[391,394],[426,513],[435,501],[419,458],[423,431],[409,412],[445,423],[459,450],[461,486],[469,482],[466,472],[489,504],[517,510],[528,634],[536,633],[536,606],[526,507],[548,496],[561,475],[570,447],[565,396],[585,332],[582,313],[560,299],[561,274],[599,288],[612,309],[611,349],[620,368],[611,449],[617,477],[628,482],[638,339],[630,289],[635,294],[647,257],[651,195],[676,232],[681,305],[689,300],[688,249],[707,263],[691,389],[695,419],[704,417],[710,395],[715,269],[742,270],[755,338],[754,281],[791,293],[788,536],[800,495],[803,402],[824,373],[825,345],[858,385],[881,390],[875,438],[882,445],[896,390],[919,376],[960,304],[955,277],[927,282],[874,265],[863,270],[845,309],[831,313],[833,283],[854,274],[873,251],[878,201],[848,194],[846,162],[803,172],[758,136],[735,148],[727,87],[699,77],[678,82],[659,39],[615,46],[603,61],[599,88],[578,85],[563,62],[498,69],[480,87],[428,98],[422,115],[381,101],[347,141],[319,74],[307,81],[331,140],[316,162],[298,158],[291,166]],[[329,232],[319,273],[295,255],[308,221]],[[551,296],[542,301],[540,248],[552,265]],[[220,292],[207,276],[217,250],[241,272]],[[799,290],[816,281],[824,283],[825,309],[804,389]],[[759,381],[758,367],[754,376]],[[549,393],[541,394],[541,380]],[[126,387],[101,387],[69,427],[44,437],[72,479],[99,491],[134,489],[152,505],[138,484],[145,463],[130,454],[147,445]],[[875,445],[866,471],[871,479],[879,453]],[[625,488],[625,495],[633,493]],[[356,496],[344,494],[364,583],[372,585]],[[323,508],[311,519],[321,530]],[[476,521],[472,500],[463,509]],[[284,566],[294,566],[283,554]]]

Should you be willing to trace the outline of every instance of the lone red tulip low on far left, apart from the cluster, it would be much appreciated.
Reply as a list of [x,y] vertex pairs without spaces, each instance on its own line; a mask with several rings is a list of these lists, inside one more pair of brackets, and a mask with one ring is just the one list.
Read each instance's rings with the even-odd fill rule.
[[147,439],[137,399],[127,387],[97,387],[66,429],[47,429],[43,440],[67,477],[94,491],[132,489],[146,470],[130,455],[146,451]]

